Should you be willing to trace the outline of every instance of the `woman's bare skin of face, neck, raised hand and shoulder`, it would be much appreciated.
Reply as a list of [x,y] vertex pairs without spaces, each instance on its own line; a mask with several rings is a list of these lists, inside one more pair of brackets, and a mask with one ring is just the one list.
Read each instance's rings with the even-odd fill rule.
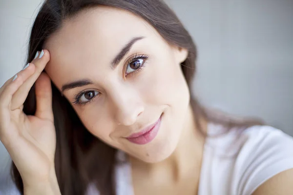
[[[134,37],[144,39],[111,68],[112,59]],[[90,133],[129,155],[135,194],[197,194],[205,138],[195,128],[180,68],[186,49],[168,44],[137,16],[103,6],[64,21],[44,48],[41,59],[34,59],[15,81],[10,78],[0,88],[0,138],[20,170],[25,194],[60,194],[53,164],[56,135],[49,78],[60,91],[70,82],[91,81],[63,95],[75,102],[81,91],[99,94],[87,104],[72,106]],[[141,71],[131,74],[128,59],[136,53],[148,59]],[[44,68],[48,75],[41,74]],[[35,81],[37,112],[28,117],[22,104]],[[150,143],[138,145],[125,138],[161,115],[160,130]],[[206,130],[207,121],[201,123]],[[292,178],[292,170],[282,172],[254,195],[267,195],[272,189],[291,194]]]

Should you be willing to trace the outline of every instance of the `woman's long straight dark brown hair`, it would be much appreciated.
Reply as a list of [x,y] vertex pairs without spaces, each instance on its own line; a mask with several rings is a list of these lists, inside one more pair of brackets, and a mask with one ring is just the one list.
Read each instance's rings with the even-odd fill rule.
[[[62,28],[63,21],[78,15],[81,10],[99,6],[111,6],[127,10],[146,20],[170,44],[188,49],[188,57],[182,63],[183,74],[191,88],[196,72],[196,47],[175,13],[162,0],[45,0],[34,21],[29,40],[27,63],[32,61],[37,51],[41,51],[44,42]],[[52,83],[53,113],[56,128],[57,145],[55,168],[62,195],[83,195],[89,183],[94,183],[102,195],[115,194],[113,168],[116,150],[91,135],[84,127],[72,106],[61,96]],[[198,129],[199,117],[221,123],[228,127],[242,128],[259,124],[253,120],[231,120],[230,117],[207,112],[191,97]],[[36,98],[34,86],[24,102],[23,111],[34,115]],[[21,176],[12,163],[12,177],[17,188],[23,194]]]

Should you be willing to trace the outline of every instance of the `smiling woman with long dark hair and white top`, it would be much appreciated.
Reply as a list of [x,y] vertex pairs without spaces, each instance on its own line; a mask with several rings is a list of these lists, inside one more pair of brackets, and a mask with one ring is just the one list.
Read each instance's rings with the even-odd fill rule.
[[46,0],[0,89],[21,194],[293,194],[293,138],[205,110],[195,60],[160,0]]

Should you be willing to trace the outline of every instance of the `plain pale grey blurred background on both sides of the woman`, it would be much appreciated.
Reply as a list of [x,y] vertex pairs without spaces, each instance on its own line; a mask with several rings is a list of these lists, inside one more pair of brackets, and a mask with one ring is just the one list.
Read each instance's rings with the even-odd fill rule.
[[[293,0],[166,0],[198,47],[194,93],[293,135]],[[42,0],[0,0],[0,86],[24,65]],[[9,156],[0,143],[0,194]]]

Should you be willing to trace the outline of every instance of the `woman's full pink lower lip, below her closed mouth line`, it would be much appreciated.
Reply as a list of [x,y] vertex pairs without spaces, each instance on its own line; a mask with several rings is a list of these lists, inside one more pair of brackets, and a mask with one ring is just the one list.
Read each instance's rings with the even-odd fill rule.
[[139,137],[131,137],[131,138],[126,138],[126,139],[132,143],[139,144],[139,145],[143,145],[143,144],[147,144],[147,143],[151,142],[158,134],[158,131],[159,131],[160,125],[161,125],[161,117],[159,118],[159,121],[156,123],[156,125],[151,130],[146,132],[145,134],[143,134]]

